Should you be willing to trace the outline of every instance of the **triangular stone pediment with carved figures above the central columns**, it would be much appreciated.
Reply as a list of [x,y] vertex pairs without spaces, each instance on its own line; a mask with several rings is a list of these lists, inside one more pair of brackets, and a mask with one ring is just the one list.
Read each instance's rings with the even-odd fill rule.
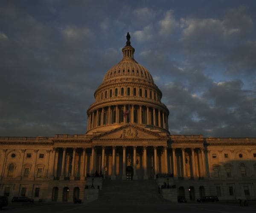
[[92,140],[167,140],[167,138],[156,132],[127,124],[97,135]]

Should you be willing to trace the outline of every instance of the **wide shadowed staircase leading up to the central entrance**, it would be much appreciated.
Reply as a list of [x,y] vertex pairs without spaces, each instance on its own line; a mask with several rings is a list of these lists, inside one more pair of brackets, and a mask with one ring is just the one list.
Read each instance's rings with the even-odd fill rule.
[[102,190],[99,190],[99,199],[92,204],[167,204],[169,201],[163,199],[158,193],[155,180],[104,180]]

